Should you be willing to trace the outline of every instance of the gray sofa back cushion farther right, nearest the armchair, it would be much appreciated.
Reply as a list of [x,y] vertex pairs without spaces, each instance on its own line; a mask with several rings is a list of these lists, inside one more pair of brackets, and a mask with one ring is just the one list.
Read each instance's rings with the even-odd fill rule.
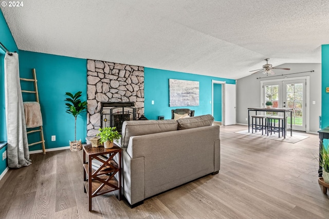
[[203,126],[212,126],[214,123],[214,117],[212,115],[199,115],[189,118],[179,118],[178,130],[180,129],[191,129]]

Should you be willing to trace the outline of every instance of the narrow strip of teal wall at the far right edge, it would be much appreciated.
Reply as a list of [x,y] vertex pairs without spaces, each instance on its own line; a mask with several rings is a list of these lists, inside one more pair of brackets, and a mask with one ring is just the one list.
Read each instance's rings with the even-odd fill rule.
[[322,99],[321,99],[321,128],[329,126],[329,93],[325,88],[329,87],[329,45],[322,45]]

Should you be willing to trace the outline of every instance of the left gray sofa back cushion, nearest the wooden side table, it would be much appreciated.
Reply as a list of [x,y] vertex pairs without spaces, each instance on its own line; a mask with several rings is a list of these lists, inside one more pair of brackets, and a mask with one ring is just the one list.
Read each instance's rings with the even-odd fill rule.
[[131,136],[175,131],[178,123],[175,120],[135,120],[122,124],[121,145],[127,147]]

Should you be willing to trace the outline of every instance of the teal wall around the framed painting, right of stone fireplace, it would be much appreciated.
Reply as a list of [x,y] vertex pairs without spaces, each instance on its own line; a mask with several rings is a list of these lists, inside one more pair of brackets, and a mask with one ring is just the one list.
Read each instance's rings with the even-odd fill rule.
[[[199,82],[199,106],[169,107],[169,79],[180,79]],[[205,75],[144,68],[144,114],[149,120],[157,120],[159,115],[165,120],[171,119],[171,110],[189,108],[194,115],[211,114],[212,80],[235,84],[235,80]],[[154,101],[154,105],[152,105]]]

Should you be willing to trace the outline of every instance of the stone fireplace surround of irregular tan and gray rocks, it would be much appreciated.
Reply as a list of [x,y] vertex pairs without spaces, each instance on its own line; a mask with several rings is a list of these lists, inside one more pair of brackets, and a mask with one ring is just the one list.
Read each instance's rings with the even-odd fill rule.
[[101,127],[101,103],[133,102],[144,114],[144,67],[87,60],[87,136]]

